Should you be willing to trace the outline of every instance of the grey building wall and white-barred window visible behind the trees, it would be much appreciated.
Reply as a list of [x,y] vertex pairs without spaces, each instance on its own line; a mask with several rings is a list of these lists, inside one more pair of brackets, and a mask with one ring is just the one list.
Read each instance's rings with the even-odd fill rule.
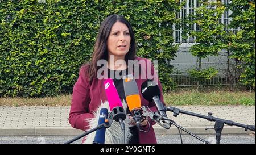
[[[180,2],[183,0],[180,0]],[[212,0],[210,0],[212,1]],[[222,0],[222,3],[225,5],[228,4],[229,0]],[[187,0],[183,8],[179,13],[176,14],[177,18],[187,18],[188,15],[194,14],[195,9],[200,6],[199,0]],[[215,6],[209,6],[211,9],[214,9]],[[237,31],[237,30],[229,30],[228,24],[230,23],[229,15],[231,11],[225,11],[222,14],[222,18],[219,19],[219,22],[224,24],[224,28],[227,31]],[[190,24],[189,28],[191,31],[199,31],[200,26],[197,23]],[[189,52],[189,48],[195,44],[195,38],[192,36],[182,37],[183,28],[176,28],[174,25],[174,33],[173,37],[175,39],[175,43],[180,44],[179,51],[176,53],[177,57],[175,60],[170,61],[170,64],[174,66],[175,72],[171,75],[174,81],[178,86],[193,86],[196,85],[196,79],[189,74],[189,70],[195,69],[197,66],[198,58],[191,55]],[[218,74],[216,77],[213,77],[210,80],[203,80],[200,82],[200,85],[230,85],[230,80],[232,80],[233,84],[238,82],[238,78],[240,76],[241,70],[238,70],[236,66],[238,62],[234,60],[230,60],[230,71],[232,72],[232,79],[228,77],[228,58],[226,56],[226,51],[220,51],[220,55],[218,56],[208,56],[204,58],[202,61],[202,69],[214,67],[218,70]]]

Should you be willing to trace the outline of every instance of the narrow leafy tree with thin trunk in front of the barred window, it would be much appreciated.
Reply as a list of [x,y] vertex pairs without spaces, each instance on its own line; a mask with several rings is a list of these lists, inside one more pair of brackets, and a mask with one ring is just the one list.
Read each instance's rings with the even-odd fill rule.
[[193,56],[199,58],[198,66],[189,72],[197,79],[197,90],[201,79],[210,79],[216,76],[218,71],[212,67],[203,69],[201,59],[208,56],[217,56],[218,52],[224,48],[221,37],[225,35],[223,24],[219,23],[221,15],[225,11],[221,1],[208,2],[201,1],[200,7],[196,9],[195,15],[191,15],[190,24],[197,23],[200,31],[192,31],[192,37],[195,37],[195,45],[191,47]]

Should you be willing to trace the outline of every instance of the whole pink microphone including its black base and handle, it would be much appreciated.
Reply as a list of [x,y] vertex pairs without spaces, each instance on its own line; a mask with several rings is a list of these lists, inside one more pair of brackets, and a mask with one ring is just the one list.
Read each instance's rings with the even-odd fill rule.
[[104,81],[106,96],[109,102],[110,111],[112,111],[113,119],[120,123],[121,129],[125,130],[125,124],[123,120],[126,118],[125,110],[123,110],[122,102],[115,89],[113,79],[106,79]]

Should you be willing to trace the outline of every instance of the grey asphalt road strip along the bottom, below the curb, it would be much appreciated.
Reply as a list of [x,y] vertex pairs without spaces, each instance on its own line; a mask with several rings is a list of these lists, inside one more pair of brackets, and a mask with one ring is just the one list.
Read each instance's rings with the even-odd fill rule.
[[[207,140],[214,135],[197,135]],[[0,136],[0,144],[63,144],[68,140],[73,139],[74,136]],[[158,143],[161,144],[181,144],[179,135],[161,135],[156,136]],[[182,135],[184,144],[201,144],[201,141],[195,139],[190,135]],[[80,144],[81,140],[73,142]],[[254,134],[243,135],[221,135],[222,144],[255,144]]]

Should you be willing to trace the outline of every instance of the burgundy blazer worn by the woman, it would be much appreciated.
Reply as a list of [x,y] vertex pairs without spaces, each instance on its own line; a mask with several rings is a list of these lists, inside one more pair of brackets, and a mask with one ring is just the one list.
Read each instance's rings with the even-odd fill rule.
[[[147,63],[151,65],[151,73],[155,72],[154,66],[152,62],[146,58],[135,58],[138,61],[144,61],[146,66],[142,65],[141,69],[144,73],[147,74]],[[149,66],[150,66],[149,65]],[[146,71],[146,72],[145,72]],[[92,83],[90,84],[89,79],[86,78],[86,73],[88,73],[88,66],[83,66],[79,72],[79,78],[73,87],[73,95],[72,95],[72,103],[71,109],[69,112],[69,123],[73,128],[81,129],[83,131],[89,128],[88,122],[85,121],[85,118],[93,118],[93,111],[96,111],[98,106],[101,102],[107,101],[106,94],[105,94],[105,87],[104,87],[104,79],[94,78]],[[143,74],[144,74],[143,73]],[[134,74],[134,73],[133,73]],[[141,75],[143,75],[141,74]],[[151,111],[156,111],[155,104],[153,102],[148,102],[146,99],[142,97],[141,94],[141,85],[146,79],[142,79],[143,77],[139,75],[139,79],[135,78],[139,89],[139,95],[141,96],[141,105],[150,107]],[[141,78],[142,77],[142,78]],[[152,79],[152,78],[151,78]],[[164,104],[163,101],[163,94],[162,94],[162,85],[158,79],[158,86],[161,91],[160,100]],[[150,120],[150,119],[149,119]],[[139,143],[146,144],[146,143],[156,143],[156,137],[154,129],[152,125],[155,122],[150,120],[150,130],[149,132],[139,132]]]

